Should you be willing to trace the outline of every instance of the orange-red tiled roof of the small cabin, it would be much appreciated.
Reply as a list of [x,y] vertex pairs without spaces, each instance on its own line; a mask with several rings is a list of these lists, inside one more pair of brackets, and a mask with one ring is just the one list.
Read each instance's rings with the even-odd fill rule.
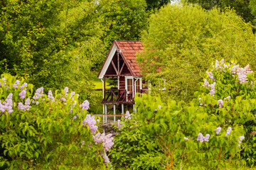
[[144,50],[142,42],[114,40],[114,43],[117,45],[117,48],[121,50],[121,55],[128,63],[132,74],[136,77],[142,77],[140,67],[136,61],[136,54]]

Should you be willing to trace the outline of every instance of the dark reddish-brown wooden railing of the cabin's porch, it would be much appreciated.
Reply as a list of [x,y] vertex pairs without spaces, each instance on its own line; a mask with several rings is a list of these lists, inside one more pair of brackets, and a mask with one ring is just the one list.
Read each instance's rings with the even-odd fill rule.
[[105,89],[102,103],[134,103],[132,92],[125,89]]

